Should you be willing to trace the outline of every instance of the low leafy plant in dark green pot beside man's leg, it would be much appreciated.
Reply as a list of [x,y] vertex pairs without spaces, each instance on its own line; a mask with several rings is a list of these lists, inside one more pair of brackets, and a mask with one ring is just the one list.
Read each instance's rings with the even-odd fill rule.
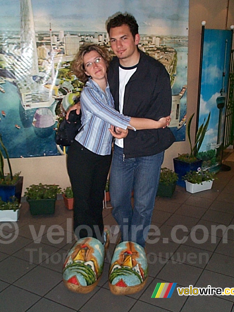
[[157,196],[172,197],[176,189],[178,175],[168,168],[161,168]]

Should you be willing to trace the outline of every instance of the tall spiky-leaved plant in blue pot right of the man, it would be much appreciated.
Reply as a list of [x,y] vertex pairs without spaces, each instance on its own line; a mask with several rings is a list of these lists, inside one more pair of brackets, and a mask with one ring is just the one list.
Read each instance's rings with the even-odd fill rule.
[[190,133],[193,117],[194,117],[194,114],[192,114],[191,117],[189,118],[187,127],[186,127],[186,135],[188,137],[189,144],[190,144],[190,153],[178,155],[178,157],[173,159],[174,170],[176,174],[178,175],[177,184],[182,187],[185,187],[185,181],[183,180],[182,177],[186,175],[187,172],[196,171],[197,168],[201,167],[202,165],[202,159],[197,158],[197,153],[199,152],[199,149],[205,137],[205,134],[209,125],[211,113],[209,113],[207,120],[205,121],[204,119],[203,123],[200,125],[195,136],[194,145],[192,144],[191,133]]

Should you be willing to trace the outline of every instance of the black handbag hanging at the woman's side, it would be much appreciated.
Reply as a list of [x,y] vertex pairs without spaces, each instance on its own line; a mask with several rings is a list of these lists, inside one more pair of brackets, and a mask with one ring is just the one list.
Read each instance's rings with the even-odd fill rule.
[[55,135],[56,144],[69,146],[74,141],[81,127],[81,111],[77,115],[76,110],[70,112],[68,120],[63,119]]

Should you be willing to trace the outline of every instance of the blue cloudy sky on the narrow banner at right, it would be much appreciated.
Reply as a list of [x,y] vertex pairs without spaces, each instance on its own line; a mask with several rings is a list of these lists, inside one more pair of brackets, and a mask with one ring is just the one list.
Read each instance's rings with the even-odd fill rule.
[[[227,52],[225,62],[226,39]],[[225,92],[228,89],[230,51],[232,47],[231,32],[227,30],[205,29],[203,47],[199,125],[205,117],[208,117],[209,112],[211,112],[211,119],[200,151],[205,151],[207,144],[217,141],[219,109],[217,108],[216,98],[220,96],[220,90],[223,86],[223,72],[226,73],[224,77]],[[223,109],[222,114],[223,127],[224,122],[225,109]]]

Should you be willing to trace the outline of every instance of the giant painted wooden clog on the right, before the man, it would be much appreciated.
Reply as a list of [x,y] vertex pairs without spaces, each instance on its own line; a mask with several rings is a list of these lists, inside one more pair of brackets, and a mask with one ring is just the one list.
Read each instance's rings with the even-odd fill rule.
[[109,287],[114,294],[139,292],[146,284],[148,263],[145,250],[134,242],[116,246],[109,271]]

